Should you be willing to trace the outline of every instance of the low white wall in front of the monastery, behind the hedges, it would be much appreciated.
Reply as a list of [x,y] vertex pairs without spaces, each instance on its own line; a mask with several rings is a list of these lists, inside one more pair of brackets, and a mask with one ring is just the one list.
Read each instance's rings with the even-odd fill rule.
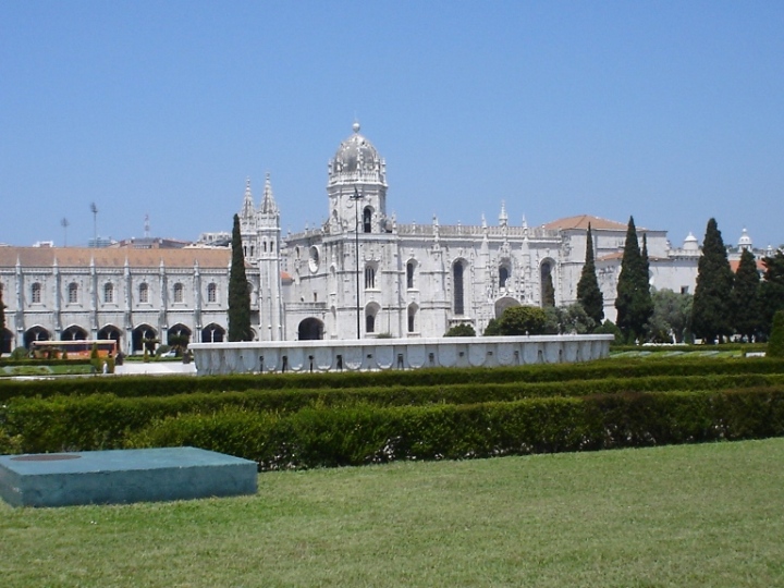
[[192,343],[199,375],[566,364],[610,354],[611,334]]

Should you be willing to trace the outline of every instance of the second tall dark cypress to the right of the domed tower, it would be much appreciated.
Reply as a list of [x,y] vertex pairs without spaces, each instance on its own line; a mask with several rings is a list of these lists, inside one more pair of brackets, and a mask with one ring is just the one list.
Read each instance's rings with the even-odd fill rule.
[[624,243],[623,259],[621,260],[621,275],[618,275],[615,309],[617,310],[617,327],[626,341],[644,340],[646,324],[653,314],[653,303],[650,295],[646,258],[642,257],[637,241],[637,228],[634,217],[629,217]]

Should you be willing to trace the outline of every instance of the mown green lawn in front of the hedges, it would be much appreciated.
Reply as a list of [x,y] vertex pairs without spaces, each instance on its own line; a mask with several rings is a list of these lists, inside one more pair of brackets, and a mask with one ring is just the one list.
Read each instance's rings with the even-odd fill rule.
[[27,586],[784,585],[784,439],[268,473],[256,497],[14,510]]

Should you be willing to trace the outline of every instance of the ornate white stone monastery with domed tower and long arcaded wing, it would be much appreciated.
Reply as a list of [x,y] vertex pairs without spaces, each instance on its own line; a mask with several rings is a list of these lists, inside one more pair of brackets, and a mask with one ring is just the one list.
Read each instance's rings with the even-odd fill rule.
[[[356,123],[327,180],[328,220],[286,236],[269,176],[258,207],[247,184],[238,215],[258,341],[434,338],[460,323],[481,334],[510,306],[541,305],[544,280],[552,280],[556,306],[572,304],[589,223],[604,313],[615,318],[625,221],[577,216],[515,225],[501,203],[494,222],[399,223],[388,213],[385,162]],[[694,292],[697,240],[689,234],[674,248],[665,231],[638,228],[642,234],[651,284]],[[140,353],[144,339],[166,343],[170,334],[223,341],[230,249],[142,241],[0,247],[3,351],[47,339],[111,338],[127,353]]]

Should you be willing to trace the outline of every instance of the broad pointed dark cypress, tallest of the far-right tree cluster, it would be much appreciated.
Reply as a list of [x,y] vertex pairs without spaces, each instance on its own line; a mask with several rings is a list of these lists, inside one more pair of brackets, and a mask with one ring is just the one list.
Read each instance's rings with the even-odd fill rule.
[[715,343],[719,338],[732,334],[732,286],[733,272],[726,247],[715,219],[710,219],[702,242],[702,255],[697,264],[697,286],[691,309],[695,336]]

